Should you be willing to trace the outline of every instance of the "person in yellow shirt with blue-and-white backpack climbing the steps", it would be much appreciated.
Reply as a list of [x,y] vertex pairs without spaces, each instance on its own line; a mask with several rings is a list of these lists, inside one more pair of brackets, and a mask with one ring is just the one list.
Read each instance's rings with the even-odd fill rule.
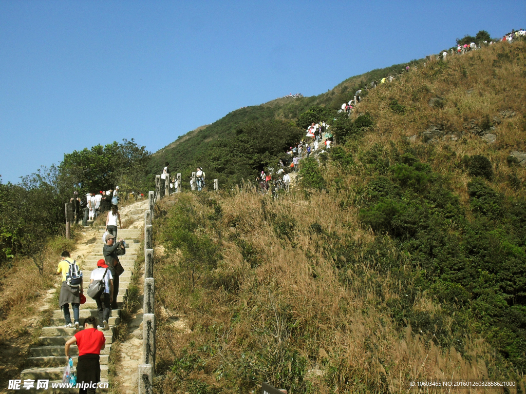
[[73,318],[75,319],[75,328],[79,327],[79,307],[80,294],[84,293],[82,289],[82,272],[78,269],[78,264],[73,260],[68,251],[61,254],[62,261],[58,263],[57,275],[62,277],[62,286],[58,297],[58,306],[64,313],[66,328],[73,327],[71,315],[69,314],[69,304],[73,308]]

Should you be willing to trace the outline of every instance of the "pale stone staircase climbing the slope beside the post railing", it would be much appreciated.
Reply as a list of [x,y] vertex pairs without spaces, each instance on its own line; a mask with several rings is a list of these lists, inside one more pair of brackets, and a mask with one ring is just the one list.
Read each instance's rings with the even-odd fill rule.
[[[97,241],[93,244],[92,251],[84,258],[83,261],[78,261],[80,269],[82,269],[84,282],[84,294],[86,295],[86,303],[80,305],[80,329],[83,328],[84,319],[89,316],[94,316],[98,320],[97,305],[95,300],[87,296],[86,289],[89,286],[89,277],[93,269],[97,267],[97,261],[103,257],[102,236],[104,234],[104,226],[98,227]],[[112,310],[111,317],[108,324],[110,329],[103,331],[106,337],[106,348],[100,352],[100,379],[103,382],[108,381],[108,365],[109,353],[113,343],[114,327],[119,324],[120,307],[123,303],[124,295],[128,289],[131,272],[133,270],[137,253],[140,248],[140,241],[143,238],[142,229],[118,230],[117,238],[124,239],[128,244],[126,255],[119,256],[120,264],[123,265],[125,272],[120,275],[119,279],[119,294],[117,296],[117,310]],[[57,288],[59,291],[59,288]],[[69,306],[69,312],[73,320],[73,310]],[[26,379],[35,380],[49,379],[48,393],[53,392],[78,392],[78,389],[53,389],[52,383],[62,382],[62,374],[64,366],[66,365],[66,356],[64,353],[64,345],[66,341],[71,338],[76,330],[73,328],[65,328],[64,314],[62,310],[57,309],[52,312],[49,319],[49,326],[42,328],[41,336],[38,338],[37,347],[29,349],[29,357],[26,359],[27,368],[21,372],[22,383]],[[78,348],[76,346],[70,347],[70,354],[73,357],[74,366],[77,365]],[[24,390],[25,391],[25,390]],[[29,390],[34,391],[34,390]],[[45,390],[39,389],[36,392],[42,393]],[[97,389],[97,392],[105,391],[105,389]]]

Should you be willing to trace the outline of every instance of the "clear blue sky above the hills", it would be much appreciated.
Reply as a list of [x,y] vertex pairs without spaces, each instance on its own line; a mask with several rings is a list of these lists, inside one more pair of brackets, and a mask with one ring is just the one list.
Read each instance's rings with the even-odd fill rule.
[[0,0],[2,181],[123,138],[156,151],[237,108],[525,22],[523,0]]

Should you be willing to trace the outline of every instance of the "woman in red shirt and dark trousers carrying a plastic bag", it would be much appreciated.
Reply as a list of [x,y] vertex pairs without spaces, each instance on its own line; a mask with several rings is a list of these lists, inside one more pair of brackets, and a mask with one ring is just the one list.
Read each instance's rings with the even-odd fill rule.
[[[84,320],[84,329],[68,339],[64,348],[69,360],[69,346],[75,343],[78,346],[77,384],[81,385],[79,394],[95,393],[100,381],[100,350],[106,347],[106,338],[96,327],[95,317],[88,317]],[[88,383],[89,387],[82,388],[84,382]]]

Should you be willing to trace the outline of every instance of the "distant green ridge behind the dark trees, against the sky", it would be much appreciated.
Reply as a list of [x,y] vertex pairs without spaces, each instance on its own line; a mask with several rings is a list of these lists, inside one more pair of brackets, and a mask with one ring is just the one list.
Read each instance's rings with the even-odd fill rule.
[[[281,119],[291,121],[296,119],[302,112],[315,107],[327,106],[339,109],[342,102],[349,101],[356,90],[362,88],[372,80],[380,80],[390,74],[396,75],[406,65],[393,65],[391,67],[376,69],[366,74],[351,77],[341,82],[338,86],[319,96],[302,98],[279,98],[259,106],[240,108],[230,112],[224,118],[217,120],[208,126],[201,126],[190,131],[176,141],[168,144],[165,148],[154,153],[148,165],[148,179],[155,178],[160,174],[164,163],[168,161],[170,171],[182,174],[187,179],[192,171],[200,165],[207,172],[209,179],[218,178],[221,185],[225,183],[236,183],[229,179],[228,175],[218,169],[209,158],[216,150],[218,141],[228,143],[235,136],[235,129],[241,123],[249,121]],[[238,180],[236,180],[238,181]]]

